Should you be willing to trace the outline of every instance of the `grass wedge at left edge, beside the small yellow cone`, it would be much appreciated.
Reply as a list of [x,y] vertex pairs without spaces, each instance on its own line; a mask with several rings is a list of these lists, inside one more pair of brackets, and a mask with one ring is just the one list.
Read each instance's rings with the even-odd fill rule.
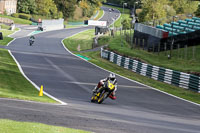
[[0,75],[0,97],[56,103],[47,96],[38,96],[38,90],[24,78],[15,61],[4,49],[0,49]]

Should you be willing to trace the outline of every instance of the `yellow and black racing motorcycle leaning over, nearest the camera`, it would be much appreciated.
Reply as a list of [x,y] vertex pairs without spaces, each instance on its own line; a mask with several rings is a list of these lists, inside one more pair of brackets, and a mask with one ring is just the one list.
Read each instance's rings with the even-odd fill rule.
[[114,89],[115,85],[112,83],[112,81],[108,80],[101,88],[99,88],[97,93],[93,93],[91,102],[97,102],[101,104],[106,98],[109,97],[109,95],[111,95]]

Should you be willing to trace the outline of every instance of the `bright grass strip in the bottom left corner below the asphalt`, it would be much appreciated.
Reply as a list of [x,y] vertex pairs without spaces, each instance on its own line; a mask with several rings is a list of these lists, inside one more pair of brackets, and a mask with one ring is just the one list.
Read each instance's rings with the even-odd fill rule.
[[41,123],[0,119],[0,133],[89,133],[87,131]]

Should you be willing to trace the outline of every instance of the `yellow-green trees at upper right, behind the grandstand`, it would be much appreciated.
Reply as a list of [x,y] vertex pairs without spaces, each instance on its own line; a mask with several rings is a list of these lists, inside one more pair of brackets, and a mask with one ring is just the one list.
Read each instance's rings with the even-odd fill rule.
[[177,14],[200,15],[199,1],[195,0],[107,0],[107,2],[118,5],[127,3],[130,8],[135,5],[140,22],[157,20]]

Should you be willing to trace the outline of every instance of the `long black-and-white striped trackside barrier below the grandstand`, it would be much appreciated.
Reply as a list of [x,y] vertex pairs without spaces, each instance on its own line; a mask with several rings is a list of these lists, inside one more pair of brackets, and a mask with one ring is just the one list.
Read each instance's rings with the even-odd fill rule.
[[145,64],[134,59],[120,56],[108,50],[104,50],[103,48],[101,49],[101,57],[143,76],[179,86],[181,88],[195,90],[200,93],[199,76]]

